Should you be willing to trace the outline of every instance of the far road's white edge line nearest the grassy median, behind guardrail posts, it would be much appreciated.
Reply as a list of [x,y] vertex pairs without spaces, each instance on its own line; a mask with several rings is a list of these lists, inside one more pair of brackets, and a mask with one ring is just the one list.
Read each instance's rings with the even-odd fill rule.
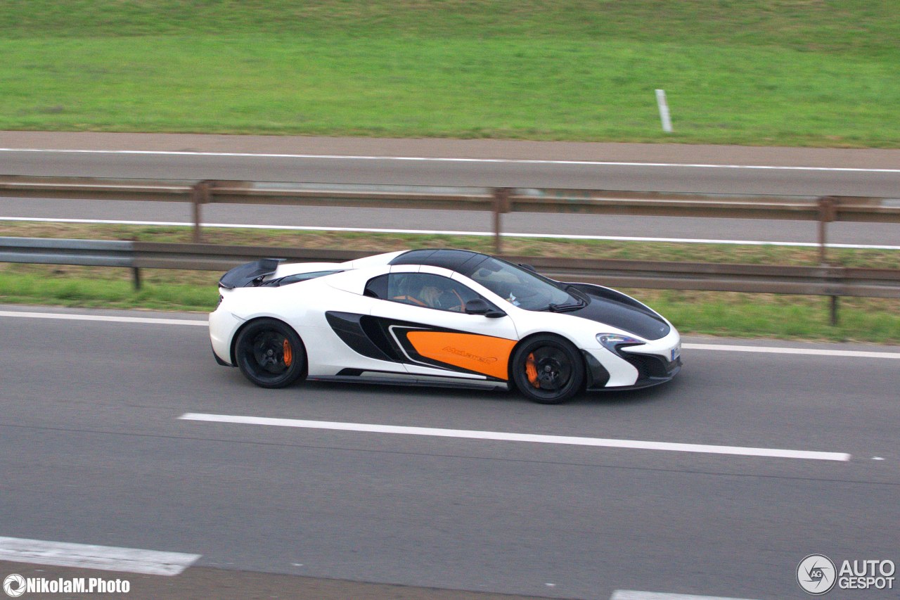
[[[34,223],[88,223],[110,225],[155,225],[162,227],[193,227],[186,221],[114,221],[109,219],[66,219],[49,217],[0,217],[0,221],[23,221]],[[200,223],[202,227],[219,229],[273,229],[292,232],[361,232],[361,233],[408,233],[415,235],[473,235],[493,237],[493,232],[456,232],[440,229],[387,229],[373,227],[315,227],[308,225],[250,225],[246,223]],[[505,238],[550,238],[557,240],[604,240],[604,241],[665,241],[683,244],[733,244],[745,246],[785,246],[791,248],[818,248],[815,241],[759,241],[759,240],[703,240],[691,238],[647,238],[622,235],[578,235],[564,233],[516,233],[501,232]],[[852,250],[900,250],[900,246],[880,246],[871,244],[825,244],[826,248],[848,248]]]

